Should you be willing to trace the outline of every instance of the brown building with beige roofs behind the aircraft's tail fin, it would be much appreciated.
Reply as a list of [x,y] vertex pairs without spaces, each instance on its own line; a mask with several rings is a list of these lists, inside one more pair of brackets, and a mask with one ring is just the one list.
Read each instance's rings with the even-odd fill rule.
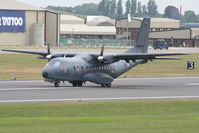
[[[131,18],[116,20],[117,39],[136,39],[141,20],[143,18]],[[151,40],[165,39],[173,46],[199,47],[199,28],[181,27],[179,20],[169,18],[151,18]]]

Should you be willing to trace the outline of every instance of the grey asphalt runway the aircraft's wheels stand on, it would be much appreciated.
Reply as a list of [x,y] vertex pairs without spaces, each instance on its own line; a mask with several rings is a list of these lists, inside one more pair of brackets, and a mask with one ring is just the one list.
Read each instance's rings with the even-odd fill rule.
[[73,88],[42,80],[0,81],[0,103],[199,98],[199,77],[122,78],[111,88]]

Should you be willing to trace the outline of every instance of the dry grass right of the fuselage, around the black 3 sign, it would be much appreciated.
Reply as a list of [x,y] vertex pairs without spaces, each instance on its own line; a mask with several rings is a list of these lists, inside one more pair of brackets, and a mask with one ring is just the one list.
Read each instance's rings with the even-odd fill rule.
[[[182,60],[154,60],[138,65],[123,76],[127,77],[173,77],[199,76],[199,54],[177,56]],[[195,62],[195,70],[187,70],[187,61]]]

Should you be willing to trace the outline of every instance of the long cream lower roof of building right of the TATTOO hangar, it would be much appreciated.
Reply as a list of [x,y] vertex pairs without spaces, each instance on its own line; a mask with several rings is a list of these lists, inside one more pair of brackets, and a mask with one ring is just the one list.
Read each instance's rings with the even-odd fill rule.
[[82,24],[61,24],[61,34],[116,35],[114,26],[88,26]]

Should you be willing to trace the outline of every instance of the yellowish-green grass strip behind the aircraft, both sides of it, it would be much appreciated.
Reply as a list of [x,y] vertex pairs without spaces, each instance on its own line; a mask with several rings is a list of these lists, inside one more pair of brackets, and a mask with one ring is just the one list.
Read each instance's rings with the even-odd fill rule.
[[[41,71],[46,60],[37,59],[35,55],[0,54],[0,80],[42,79]],[[156,60],[147,64],[138,65],[125,73],[125,77],[159,77],[159,76],[199,76],[199,54],[182,57],[178,61]],[[195,61],[196,69],[187,70],[187,61]]]

